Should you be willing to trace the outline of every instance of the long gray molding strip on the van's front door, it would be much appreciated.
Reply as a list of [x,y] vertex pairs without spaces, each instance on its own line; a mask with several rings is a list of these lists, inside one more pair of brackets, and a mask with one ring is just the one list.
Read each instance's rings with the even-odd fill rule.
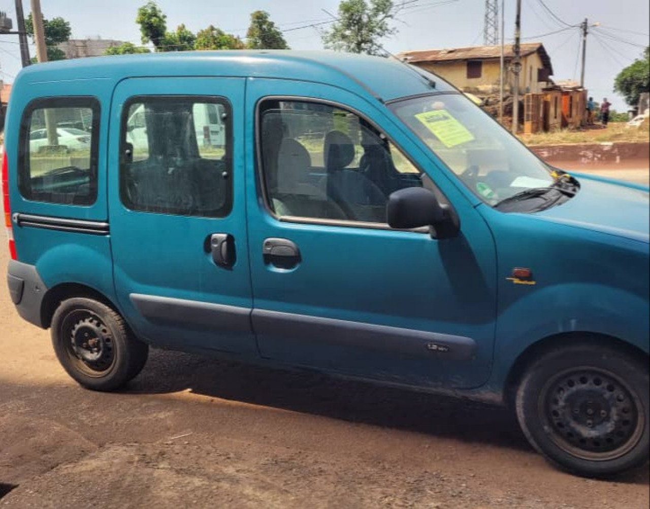
[[476,342],[464,336],[265,309],[253,309],[252,322],[257,335],[301,339],[304,343],[313,341],[460,361],[472,359],[476,350]]

